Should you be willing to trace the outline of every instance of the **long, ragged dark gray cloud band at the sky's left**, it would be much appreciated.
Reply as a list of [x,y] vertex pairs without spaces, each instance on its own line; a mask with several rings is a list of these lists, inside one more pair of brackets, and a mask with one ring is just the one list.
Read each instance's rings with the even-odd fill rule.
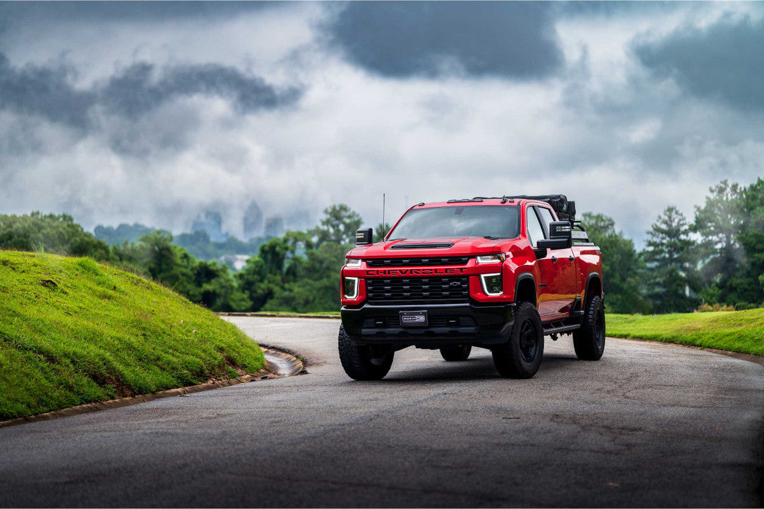
[[136,118],[173,98],[208,95],[228,99],[241,113],[252,113],[290,105],[300,95],[299,89],[277,90],[258,76],[214,63],[162,68],[134,63],[89,89],[77,89],[73,74],[63,64],[15,67],[0,53],[0,109],[86,128],[95,106]]

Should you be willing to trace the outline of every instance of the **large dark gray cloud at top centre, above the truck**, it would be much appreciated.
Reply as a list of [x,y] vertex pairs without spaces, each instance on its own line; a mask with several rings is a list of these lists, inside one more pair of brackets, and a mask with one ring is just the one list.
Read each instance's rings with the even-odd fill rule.
[[348,59],[383,76],[533,79],[562,64],[552,7],[527,2],[351,2],[333,20]]

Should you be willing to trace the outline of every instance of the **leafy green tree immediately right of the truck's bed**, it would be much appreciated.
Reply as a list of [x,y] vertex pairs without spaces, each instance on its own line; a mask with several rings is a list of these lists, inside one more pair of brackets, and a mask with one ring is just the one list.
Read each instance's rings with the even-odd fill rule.
[[607,311],[613,313],[649,313],[643,284],[645,263],[634,243],[615,228],[615,221],[604,214],[587,212],[581,217],[589,240],[602,251],[604,291]]

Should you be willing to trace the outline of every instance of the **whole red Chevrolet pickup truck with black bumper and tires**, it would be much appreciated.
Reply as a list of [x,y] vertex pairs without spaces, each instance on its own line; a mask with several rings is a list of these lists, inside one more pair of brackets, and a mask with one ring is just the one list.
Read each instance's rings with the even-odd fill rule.
[[447,361],[486,348],[500,375],[527,379],[544,337],[561,333],[579,359],[601,358],[601,251],[565,195],[419,203],[372,238],[358,230],[340,274],[338,348],[352,379],[382,379],[408,346]]

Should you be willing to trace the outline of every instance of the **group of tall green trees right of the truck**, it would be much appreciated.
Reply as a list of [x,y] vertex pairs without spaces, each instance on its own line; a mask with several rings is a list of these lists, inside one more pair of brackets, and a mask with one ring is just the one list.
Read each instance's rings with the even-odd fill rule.
[[581,222],[602,250],[608,311],[764,306],[764,179],[747,187],[721,181],[692,219],[665,208],[641,252],[610,217],[587,213]]

